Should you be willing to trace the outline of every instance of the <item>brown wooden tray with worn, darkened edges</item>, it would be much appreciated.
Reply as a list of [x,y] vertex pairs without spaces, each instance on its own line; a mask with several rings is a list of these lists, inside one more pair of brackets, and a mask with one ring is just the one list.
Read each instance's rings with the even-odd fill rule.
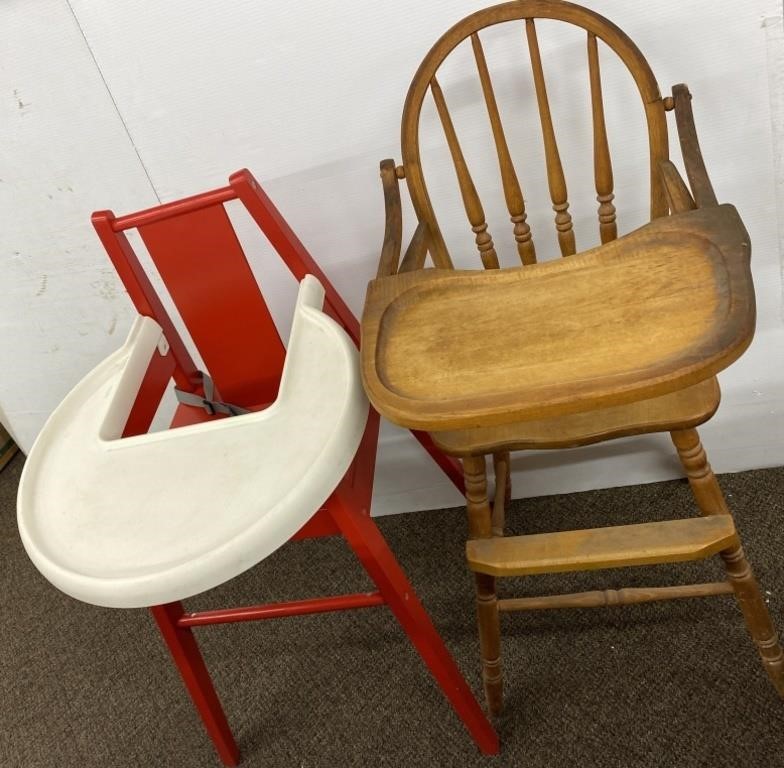
[[416,429],[491,426],[667,394],[732,363],[754,334],[749,239],[730,205],[505,270],[374,280],[362,377]]

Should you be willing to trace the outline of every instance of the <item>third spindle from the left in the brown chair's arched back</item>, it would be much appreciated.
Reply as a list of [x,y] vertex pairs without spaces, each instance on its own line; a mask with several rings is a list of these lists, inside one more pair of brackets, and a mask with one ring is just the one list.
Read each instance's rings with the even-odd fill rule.
[[569,214],[567,200],[566,179],[564,178],[561,156],[558,154],[558,144],[555,140],[553,119],[550,115],[550,104],[547,100],[547,87],[544,82],[542,70],[542,57],[539,54],[539,41],[536,37],[536,27],[533,19],[525,20],[525,33],[528,38],[528,50],[531,55],[531,68],[534,75],[534,88],[536,102],[539,106],[539,119],[542,123],[542,138],[544,139],[545,162],[547,163],[547,185],[550,189],[550,199],[553,201],[555,211],[555,228],[558,231],[558,245],[562,256],[571,256],[576,252],[572,229],[572,217]]

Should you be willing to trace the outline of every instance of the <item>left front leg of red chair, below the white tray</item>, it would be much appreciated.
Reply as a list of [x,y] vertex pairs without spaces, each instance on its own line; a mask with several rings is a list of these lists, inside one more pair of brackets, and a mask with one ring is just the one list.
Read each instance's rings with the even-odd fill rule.
[[223,714],[223,707],[213,688],[196,638],[190,629],[177,625],[184,613],[182,603],[157,605],[150,611],[158,623],[166,645],[169,646],[174,663],[180,670],[185,687],[201,715],[220,759],[224,765],[237,765],[240,751],[231,734],[226,715]]

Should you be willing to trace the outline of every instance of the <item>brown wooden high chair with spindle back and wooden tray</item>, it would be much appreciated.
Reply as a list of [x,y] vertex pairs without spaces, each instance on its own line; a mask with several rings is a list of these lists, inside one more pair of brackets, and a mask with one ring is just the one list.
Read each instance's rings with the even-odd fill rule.
[[[550,108],[540,19],[549,25],[565,22],[573,35],[575,30],[584,35],[586,73],[580,77],[589,90],[590,107],[585,115],[569,117],[574,125],[591,126],[601,245],[582,252]],[[514,136],[529,130],[528,147],[532,142],[542,147],[555,240],[565,259],[539,262],[544,219],[533,227],[529,221],[530,191],[524,193],[520,155],[510,150],[490,57],[484,52],[487,28],[502,25],[522,46],[517,60],[527,48],[533,96],[524,125],[519,120],[514,124]],[[452,57],[458,48],[471,55],[473,64],[460,70],[453,95],[449,71],[454,75],[460,66]],[[650,221],[622,237],[600,71],[600,61],[613,54],[640,96],[637,104],[622,98],[615,106],[641,114],[649,158],[640,176],[649,194]],[[442,70],[450,57],[451,70]],[[443,78],[442,71],[447,72]],[[487,175],[481,177],[482,185],[475,182],[481,154],[464,151],[462,143],[467,136],[479,136],[479,125],[466,130],[464,122],[453,121],[449,109],[452,102],[465,113],[472,100],[467,86],[472,76],[478,79],[474,101],[486,112],[487,142],[497,155],[497,199],[509,219],[505,231],[496,235],[499,243],[506,237],[520,262],[505,269],[488,224],[499,219],[486,215],[480,197]],[[420,119],[426,101],[443,129],[465,210],[460,226],[467,237],[461,248],[465,253],[473,241],[484,270],[454,268],[447,241],[457,236],[458,226],[450,224],[447,238],[436,216],[425,181],[426,167],[433,166],[423,162],[420,152],[420,133],[428,124]],[[571,100],[568,107],[579,110],[581,105]],[[528,119],[534,111],[538,120]],[[688,185],[670,161],[668,112],[674,112]],[[535,123],[538,137],[530,132]],[[751,341],[755,308],[748,234],[737,211],[718,204],[700,154],[688,88],[676,85],[663,98],[632,40],[592,11],[561,0],[506,2],[459,21],[435,43],[409,88],[401,136],[402,164],[381,163],[386,231],[362,318],[362,377],[383,415],[428,431],[435,448],[462,458],[467,557],[476,578],[482,675],[491,712],[502,707],[502,612],[726,594],[737,597],[764,668],[784,696],[784,654],[696,431],[718,407],[715,375]],[[426,146],[434,145],[429,135]],[[405,252],[401,181],[417,218]],[[656,431],[670,433],[700,517],[503,537],[512,492],[509,451],[565,448]],[[488,456],[495,474],[492,503]],[[544,597],[499,598],[496,589],[496,580],[506,576],[676,563],[716,553],[726,567],[726,581]]]

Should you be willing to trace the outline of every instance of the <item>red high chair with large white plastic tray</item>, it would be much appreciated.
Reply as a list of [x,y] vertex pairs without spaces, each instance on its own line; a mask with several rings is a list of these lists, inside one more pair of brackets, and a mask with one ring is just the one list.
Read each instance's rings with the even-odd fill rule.
[[[242,203],[301,281],[285,349],[224,205]],[[25,464],[19,528],[41,572],[97,605],[150,607],[221,760],[239,750],[193,628],[387,605],[486,754],[498,739],[370,517],[378,414],[359,323],[248,171],[140,213],[93,215],[139,312],[55,410]],[[209,372],[134,253],[135,229]],[[147,433],[174,380],[172,429]],[[450,460],[428,449],[445,468]],[[340,534],[376,589],[188,612],[182,600],[290,539]]]

